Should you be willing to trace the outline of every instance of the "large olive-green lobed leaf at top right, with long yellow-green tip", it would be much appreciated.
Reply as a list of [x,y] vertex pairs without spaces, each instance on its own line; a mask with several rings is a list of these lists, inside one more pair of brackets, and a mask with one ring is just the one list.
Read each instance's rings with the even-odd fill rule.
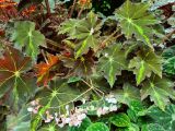
[[149,4],[147,3],[132,3],[130,0],[127,0],[121,8],[116,10],[115,16],[119,20],[121,31],[127,38],[130,38],[135,34],[137,39],[152,47],[149,38],[149,34],[152,33],[150,25],[156,24],[158,21],[148,10]]

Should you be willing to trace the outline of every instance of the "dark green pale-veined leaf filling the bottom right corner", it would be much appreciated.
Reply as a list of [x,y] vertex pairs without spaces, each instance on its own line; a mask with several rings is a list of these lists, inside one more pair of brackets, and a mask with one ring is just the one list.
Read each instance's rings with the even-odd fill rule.
[[173,104],[167,105],[164,111],[155,106],[152,106],[151,108],[148,109],[148,115],[156,123],[162,126],[165,129],[165,131],[174,131],[175,129],[175,105]]

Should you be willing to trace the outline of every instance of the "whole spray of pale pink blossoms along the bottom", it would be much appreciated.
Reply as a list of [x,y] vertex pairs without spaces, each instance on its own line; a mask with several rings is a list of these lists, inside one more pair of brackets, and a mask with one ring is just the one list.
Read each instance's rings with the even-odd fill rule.
[[[118,103],[113,95],[106,96],[102,102],[103,104],[100,103],[98,106],[90,105],[85,108],[79,107],[71,111],[69,110],[69,106],[66,106],[65,115],[60,115],[58,112],[51,115],[48,110],[46,110],[45,117],[43,118],[46,123],[55,120],[60,128],[63,128],[66,124],[69,124],[69,127],[80,127],[90,111],[95,111],[96,115],[100,117],[102,115],[106,115],[118,109]],[[33,114],[37,114],[40,107],[42,106],[39,105],[39,100],[36,99],[31,102],[31,107],[28,107],[27,110]]]

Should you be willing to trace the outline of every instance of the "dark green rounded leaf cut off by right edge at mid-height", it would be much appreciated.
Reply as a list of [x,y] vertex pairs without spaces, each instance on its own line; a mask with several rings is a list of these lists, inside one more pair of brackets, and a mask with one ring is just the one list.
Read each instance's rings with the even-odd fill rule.
[[171,46],[163,51],[163,71],[168,75],[175,75],[175,46]]

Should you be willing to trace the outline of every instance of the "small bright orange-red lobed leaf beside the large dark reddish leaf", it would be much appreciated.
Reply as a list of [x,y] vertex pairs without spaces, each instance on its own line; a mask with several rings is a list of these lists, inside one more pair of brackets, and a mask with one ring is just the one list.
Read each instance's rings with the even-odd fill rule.
[[37,83],[46,85],[55,76],[51,70],[58,63],[59,58],[54,55],[48,55],[48,63],[42,62],[36,64]]

